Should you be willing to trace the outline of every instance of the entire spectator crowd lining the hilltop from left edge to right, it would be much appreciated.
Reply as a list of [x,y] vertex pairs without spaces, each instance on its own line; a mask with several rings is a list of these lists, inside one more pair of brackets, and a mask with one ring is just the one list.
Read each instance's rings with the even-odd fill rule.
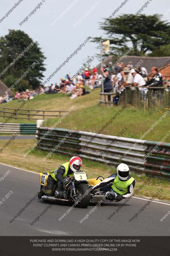
[[[119,62],[114,69],[112,67],[112,62],[109,62],[109,65],[103,64],[103,67],[100,68],[102,74],[98,74],[96,66],[93,66],[92,71],[85,68],[85,70],[77,74],[76,78],[73,80],[70,78],[69,74],[67,74],[64,78],[60,78],[59,84],[40,85],[35,88],[35,90],[26,89],[25,92],[15,92],[15,96],[11,99],[9,99],[8,93],[5,93],[3,96],[0,96],[0,103],[2,104],[9,100],[32,100],[35,95],[54,93],[67,93],[71,99],[74,99],[90,93],[94,88],[102,87],[103,79],[104,92],[116,92],[113,103],[117,105],[119,97],[126,86],[138,86],[140,87],[138,88],[140,93],[146,95],[148,87],[163,86],[166,83],[170,83],[163,74],[158,72],[156,67],[151,69],[152,79],[149,79],[145,67],[134,68],[131,61],[126,64]],[[109,72],[109,70],[111,70],[111,72]],[[89,87],[88,91],[85,90],[85,85]],[[131,90],[134,89],[135,88],[131,88]],[[108,96],[108,100],[110,100],[110,96]]]

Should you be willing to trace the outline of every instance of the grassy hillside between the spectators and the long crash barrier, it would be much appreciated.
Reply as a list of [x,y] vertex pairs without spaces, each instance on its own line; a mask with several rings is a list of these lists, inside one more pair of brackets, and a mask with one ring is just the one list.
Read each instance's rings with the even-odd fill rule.
[[[73,105],[75,106],[68,116],[58,125],[59,128],[72,129],[77,127],[77,130],[83,130],[88,132],[98,132],[102,126],[104,126],[119,110],[122,106],[113,107],[99,105],[100,88],[93,90],[90,94],[85,96],[70,99],[69,95],[63,95],[61,93],[54,95],[37,95],[33,100],[26,101],[24,109],[40,109],[40,110],[69,110]],[[1,106],[8,108],[17,108],[22,102],[13,100],[5,103]],[[113,123],[109,124],[107,128],[102,132],[109,135],[120,135],[119,132],[126,127],[126,132],[123,133],[123,137],[139,139],[152,124],[155,123],[167,111],[166,109],[137,109],[131,106],[127,106],[120,115],[113,120]],[[4,118],[0,118],[0,122],[4,122]],[[52,126],[57,122],[58,117],[48,118],[45,120],[45,126]],[[145,136],[145,140],[160,141],[166,133],[170,130],[169,114],[157,124],[153,130]],[[10,122],[14,123],[34,123],[34,120],[26,119],[12,119]],[[167,137],[165,142],[170,142],[170,136]]]

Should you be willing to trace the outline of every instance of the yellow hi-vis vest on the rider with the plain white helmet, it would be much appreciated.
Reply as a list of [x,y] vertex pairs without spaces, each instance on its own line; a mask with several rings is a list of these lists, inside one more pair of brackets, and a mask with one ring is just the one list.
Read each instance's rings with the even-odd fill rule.
[[128,192],[128,186],[132,184],[134,180],[135,179],[131,177],[129,180],[121,181],[116,175],[115,180],[112,182],[112,189],[120,195],[126,194]]

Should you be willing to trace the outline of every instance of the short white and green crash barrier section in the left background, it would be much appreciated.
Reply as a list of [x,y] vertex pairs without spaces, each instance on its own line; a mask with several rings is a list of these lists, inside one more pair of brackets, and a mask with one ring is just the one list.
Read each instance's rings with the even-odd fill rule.
[[0,123],[0,133],[35,134],[36,124]]

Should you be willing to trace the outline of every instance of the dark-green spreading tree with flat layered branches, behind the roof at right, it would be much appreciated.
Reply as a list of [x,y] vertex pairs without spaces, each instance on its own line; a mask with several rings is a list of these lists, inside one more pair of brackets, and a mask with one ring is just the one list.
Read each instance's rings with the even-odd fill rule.
[[[122,56],[129,47],[140,40],[141,43],[134,47],[129,55],[145,55],[169,42],[170,25],[166,21],[159,20],[161,17],[160,14],[149,16],[123,14],[113,19],[107,19],[100,22],[100,29],[103,29],[107,36],[105,38],[95,37],[93,42],[109,39],[110,52],[105,56],[110,54]],[[158,20],[159,23],[153,26]]]

